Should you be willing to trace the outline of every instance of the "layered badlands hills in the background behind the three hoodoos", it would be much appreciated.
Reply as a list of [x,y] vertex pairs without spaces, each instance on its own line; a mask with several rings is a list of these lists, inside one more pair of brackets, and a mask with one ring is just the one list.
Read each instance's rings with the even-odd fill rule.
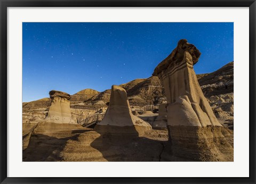
[[[220,123],[223,126],[233,129],[234,62],[230,62],[212,73],[197,74],[197,79]],[[157,106],[166,102],[164,88],[156,76],[147,79],[135,79],[119,86],[126,90],[130,105],[137,111],[142,111],[142,108],[146,105]],[[79,118],[84,119],[86,113],[88,115],[93,114],[99,108],[105,108],[106,110],[110,93],[110,89],[106,89],[103,92],[84,89],[71,95],[70,107],[74,119],[77,119],[76,121],[79,122]],[[44,120],[50,105],[50,98],[42,98],[37,101],[23,103],[23,123],[37,123]],[[31,126],[27,125],[27,127]]]

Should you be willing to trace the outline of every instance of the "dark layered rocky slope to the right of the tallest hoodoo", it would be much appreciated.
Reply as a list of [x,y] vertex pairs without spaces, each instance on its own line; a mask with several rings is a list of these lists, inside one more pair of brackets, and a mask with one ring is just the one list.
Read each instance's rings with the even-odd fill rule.
[[234,62],[226,64],[215,72],[204,74],[198,82],[219,122],[233,129]]

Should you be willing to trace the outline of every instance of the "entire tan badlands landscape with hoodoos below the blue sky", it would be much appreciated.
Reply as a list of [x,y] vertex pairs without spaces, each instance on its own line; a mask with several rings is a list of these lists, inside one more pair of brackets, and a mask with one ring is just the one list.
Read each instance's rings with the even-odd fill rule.
[[234,161],[234,63],[196,75],[200,56],[181,39],[147,79],[23,103],[22,160]]

